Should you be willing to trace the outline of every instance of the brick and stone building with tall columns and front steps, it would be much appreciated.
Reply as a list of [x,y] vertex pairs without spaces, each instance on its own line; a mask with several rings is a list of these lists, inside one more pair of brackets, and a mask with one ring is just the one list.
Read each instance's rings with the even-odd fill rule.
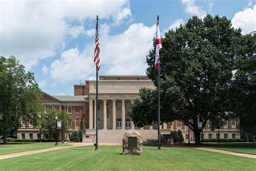
[[[139,129],[145,143],[154,142],[157,140],[157,125],[138,128],[127,115],[130,104],[140,98],[141,87],[155,88],[153,82],[146,76],[99,76],[98,109],[96,109],[96,80],[86,80],[85,85],[74,85],[74,95],[44,93],[43,112],[49,108],[61,111],[62,106],[65,107],[72,118],[65,139],[69,139],[73,131],[82,130],[85,142],[95,142],[96,110],[98,110],[99,142],[122,142],[126,129]],[[21,125],[17,133],[19,139],[40,139],[39,129],[32,126],[29,121],[21,119]],[[238,125],[239,120],[228,120],[218,134],[218,130],[211,131],[207,123],[203,138],[218,138],[218,136],[240,138]],[[161,134],[170,134],[170,129],[180,129],[185,140],[188,141],[188,127],[181,121],[161,125]],[[48,137],[42,135],[41,138]],[[190,138],[194,140],[192,131],[190,131]]]

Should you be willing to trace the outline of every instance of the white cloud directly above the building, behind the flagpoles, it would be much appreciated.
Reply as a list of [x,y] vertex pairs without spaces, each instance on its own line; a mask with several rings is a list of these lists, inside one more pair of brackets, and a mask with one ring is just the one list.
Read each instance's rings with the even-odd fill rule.
[[[156,25],[132,24],[119,35],[104,34],[100,37],[99,74],[145,74],[146,56],[153,46]],[[93,43],[83,52],[77,48],[64,51],[60,59],[50,66],[50,76],[58,83],[95,77]]]

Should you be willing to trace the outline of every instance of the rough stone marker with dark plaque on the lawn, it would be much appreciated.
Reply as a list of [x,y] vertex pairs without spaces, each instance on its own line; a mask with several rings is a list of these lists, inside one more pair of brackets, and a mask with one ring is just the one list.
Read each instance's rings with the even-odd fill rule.
[[142,134],[134,129],[124,134],[123,155],[142,155]]

